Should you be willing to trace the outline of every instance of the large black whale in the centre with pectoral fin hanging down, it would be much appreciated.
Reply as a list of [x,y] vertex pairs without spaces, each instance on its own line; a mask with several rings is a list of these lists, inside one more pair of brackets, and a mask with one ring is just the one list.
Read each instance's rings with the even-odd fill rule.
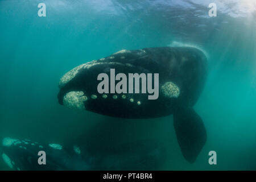
[[[100,73],[159,73],[159,97],[148,94],[97,92]],[[156,118],[173,114],[181,152],[195,162],[207,134],[202,119],[193,110],[207,78],[207,58],[192,47],[158,47],[122,50],[100,60],[82,64],[59,82],[59,104],[119,118]],[[134,89],[134,88],[133,88]],[[139,88],[140,90],[142,88]]]

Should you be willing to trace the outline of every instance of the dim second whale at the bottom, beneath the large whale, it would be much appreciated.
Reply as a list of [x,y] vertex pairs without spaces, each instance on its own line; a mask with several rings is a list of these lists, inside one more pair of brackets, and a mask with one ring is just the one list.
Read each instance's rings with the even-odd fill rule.
[[[165,149],[152,140],[118,144],[102,151],[90,151],[90,144],[38,143],[30,139],[6,137],[0,145],[3,161],[13,170],[152,170],[158,169],[166,156]],[[139,148],[139,150],[138,150]],[[46,154],[42,162],[39,151]],[[40,154],[40,155],[38,155]]]

